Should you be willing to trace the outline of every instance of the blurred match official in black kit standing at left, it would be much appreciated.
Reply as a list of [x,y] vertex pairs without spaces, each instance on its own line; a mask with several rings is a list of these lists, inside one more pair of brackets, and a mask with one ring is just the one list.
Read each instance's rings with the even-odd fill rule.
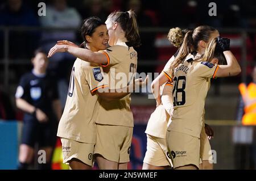
[[31,61],[34,69],[20,78],[15,94],[16,106],[24,111],[18,169],[28,169],[35,155],[35,144],[46,156],[46,163],[39,163],[38,169],[51,169],[61,106],[54,78],[46,73],[47,53],[38,49]]

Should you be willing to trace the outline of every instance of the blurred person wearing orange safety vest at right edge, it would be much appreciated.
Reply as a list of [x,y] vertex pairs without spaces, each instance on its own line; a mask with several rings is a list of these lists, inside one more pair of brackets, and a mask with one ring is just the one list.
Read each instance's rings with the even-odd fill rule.
[[[251,73],[252,81],[249,84],[240,83],[239,90],[241,93],[240,104],[237,111],[237,121],[241,121],[242,125],[256,125],[256,66]],[[249,127],[248,127],[249,128]],[[253,129],[253,128],[251,128]],[[250,144],[236,145],[236,151],[245,151],[240,153],[241,160],[238,161],[237,169],[255,169],[256,168],[256,129]],[[249,138],[247,138],[249,139]],[[237,157],[236,157],[237,158]],[[246,166],[249,162],[249,166]],[[238,159],[236,159],[238,160]]]

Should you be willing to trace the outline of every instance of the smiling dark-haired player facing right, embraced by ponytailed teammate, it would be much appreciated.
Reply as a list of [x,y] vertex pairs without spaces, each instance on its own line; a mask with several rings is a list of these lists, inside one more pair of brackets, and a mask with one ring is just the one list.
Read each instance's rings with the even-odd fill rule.
[[[81,35],[85,49],[97,52],[108,47],[106,24],[96,17],[84,20]],[[94,91],[99,86],[106,86],[102,68],[77,58],[57,132],[63,146],[63,162],[69,163],[71,169],[92,168],[96,143],[95,115],[98,110],[98,96]]]

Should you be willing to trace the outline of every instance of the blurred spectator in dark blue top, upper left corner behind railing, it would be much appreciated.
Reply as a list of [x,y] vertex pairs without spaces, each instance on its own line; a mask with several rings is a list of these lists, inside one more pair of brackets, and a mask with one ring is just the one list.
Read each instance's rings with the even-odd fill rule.
[[[34,11],[22,0],[7,0],[0,10],[0,26],[38,26],[38,19]],[[11,31],[9,34],[9,56],[10,58],[28,58],[32,56],[33,49],[39,39],[38,33],[30,31]],[[3,42],[1,32],[0,41]],[[26,46],[17,45],[24,44]],[[1,44],[3,45],[3,44]],[[0,45],[0,46],[1,46]],[[0,47],[3,52],[3,47]],[[15,53],[14,53],[15,52]],[[1,55],[3,56],[3,55]]]

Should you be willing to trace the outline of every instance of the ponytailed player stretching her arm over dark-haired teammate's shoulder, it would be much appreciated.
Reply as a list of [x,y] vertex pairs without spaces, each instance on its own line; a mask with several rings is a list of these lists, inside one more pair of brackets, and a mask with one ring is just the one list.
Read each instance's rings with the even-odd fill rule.
[[[101,64],[104,71],[112,78],[110,89],[122,89],[133,80],[137,69],[137,52],[133,47],[140,45],[140,38],[135,14],[133,11],[113,12],[108,16],[106,26],[109,31],[109,45],[112,47],[100,52],[92,52],[72,45],[57,44],[49,51],[48,56],[57,52],[69,52],[81,60]],[[121,73],[125,76],[122,77],[124,82],[120,83],[115,74]],[[118,86],[113,87],[113,83],[114,86]],[[98,95],[108,94],[99,88],[96,91]],[[100,100],[94,149],[100,169],[127,169],[133,134],[130,101],[130,94],[121,100],[111,102]]]

